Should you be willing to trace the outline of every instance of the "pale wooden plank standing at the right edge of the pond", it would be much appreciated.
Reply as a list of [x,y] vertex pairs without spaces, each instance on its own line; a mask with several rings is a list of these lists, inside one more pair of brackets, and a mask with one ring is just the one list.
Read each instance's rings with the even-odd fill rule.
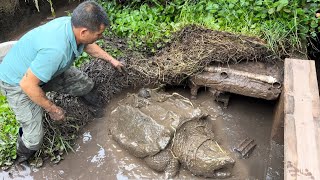
[[320,102],[314,61],[286,59],[284,177],[320,179]]

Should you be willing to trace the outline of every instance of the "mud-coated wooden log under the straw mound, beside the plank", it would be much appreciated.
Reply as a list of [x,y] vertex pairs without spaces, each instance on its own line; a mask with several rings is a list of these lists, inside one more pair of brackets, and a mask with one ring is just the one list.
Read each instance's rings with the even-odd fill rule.
[[272,66],[269,69],[275,72],[270,75],[270,71],[263,72],[260,69],[264,66],[260,66],[261,63],[250,62],[229,67],[207,67],[204,72],[190,78],[191,95],[196,97],[198,88],[205,86],[249,97],[277,99],[282,91],[282,81],[277,77],[280,72]]

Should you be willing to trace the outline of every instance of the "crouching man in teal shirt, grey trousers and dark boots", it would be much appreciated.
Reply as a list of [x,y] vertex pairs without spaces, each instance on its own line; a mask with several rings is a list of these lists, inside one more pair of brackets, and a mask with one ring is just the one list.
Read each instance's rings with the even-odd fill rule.
[[93,1],[81,3],[72,17],[61,17],[37,27],[17,41],[0,64],[0,90],[20,123],[17,162],[26,161],[41,146],[43,113],[59,121],[64,110],[51,102],[46,91],[86,98],[94,83],[72,67],[82,51],[110,62],[121,70],[123,64],[94,42],[109,26],[104,9]]

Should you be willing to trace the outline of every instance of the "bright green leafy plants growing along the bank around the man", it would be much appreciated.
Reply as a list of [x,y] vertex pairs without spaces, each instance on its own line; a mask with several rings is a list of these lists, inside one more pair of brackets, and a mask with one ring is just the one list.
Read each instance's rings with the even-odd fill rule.
[[[38,2],[34,0],[34,2]],[[48,0],[51,4],[51,0]],[[213,30],[257,36],[279,55],[301,49],[306,37],[315,37],[319,20],[315,11],[320,0],[117,0],[99,3],[111,21],[111,32],[128,38],[131,48],[154,53],[170,41],[171,34],[185,25],[197,24]],[[112,55],[119,55],[117,50]],[[88,54],[78,58],[80,66]],[[16,157],[18,124],[5,97],[0,95],[0,166]],[[62,143],[63,144],[63,143]],[[59,147],[59,146],[58,146]]]

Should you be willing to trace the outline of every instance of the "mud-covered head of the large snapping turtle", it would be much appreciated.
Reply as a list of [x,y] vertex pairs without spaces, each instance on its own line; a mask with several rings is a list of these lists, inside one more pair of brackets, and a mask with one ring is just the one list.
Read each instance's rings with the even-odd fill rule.
[[[213,139],[206,116],[183,122],[173,139],[172,152],[194,175],[225,178],[234,160]],[[219,171],[215,171],[215,170]]]

